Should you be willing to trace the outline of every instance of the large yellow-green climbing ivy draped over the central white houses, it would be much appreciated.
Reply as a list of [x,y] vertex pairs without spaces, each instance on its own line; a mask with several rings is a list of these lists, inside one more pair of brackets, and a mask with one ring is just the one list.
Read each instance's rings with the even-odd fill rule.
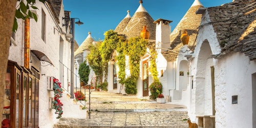
[[[118,53],[114,59],[117,60],[119,67],[118,78],[119,83],[125,84],[125,92],[127,94],[137,94],[137,79],[140,74],[140,59],[146,54],[146,48],[148,41],[141,37],[132,37],[126,40],[123,35],[117,34],[114,30],[109,30],[104,33],[104,40],[98,46],[91,47],[91,53],[88,55],[89,65],[92,67],[95,74],[108,76],[108,66],[113,53]],[[128,78],[125,78],[125,56],[129,56],[129,68],[130,74]],[[99,62],[100,61],[100,62]],[[96,66],[95,66],[96,64]],[[101,71],[96,73],[96,71]],[[102,78],[102,77],[101,77]]]

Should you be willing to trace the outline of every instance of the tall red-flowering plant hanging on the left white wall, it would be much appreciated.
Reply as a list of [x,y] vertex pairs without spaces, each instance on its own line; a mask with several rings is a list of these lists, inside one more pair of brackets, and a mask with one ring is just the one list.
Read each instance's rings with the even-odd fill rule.
[[54,101],[53,101],[53,109],[55,109],[55,114],[58,114],[57,119],[61,118],[63,114],[62,111],[62,103],[60,102],[59,98],[62,97],[62,88],[60,86],[60,82],[58,79],[53,79],[53,91],[54,91]]

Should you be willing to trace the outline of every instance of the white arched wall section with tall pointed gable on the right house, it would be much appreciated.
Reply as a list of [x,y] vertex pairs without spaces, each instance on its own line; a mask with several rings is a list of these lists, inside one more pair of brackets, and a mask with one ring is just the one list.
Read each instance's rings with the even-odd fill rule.
[[[208,22],[210,22],[210,19],[206,12],[206,14],[202,15],[201,25]],[[202,44],[204,44],[204,46],[202,46]],[[191,80],[193,80],[194,86],[193,89],[191,89],[191,110],[188,114],[192,121],[196,120],[196,115],[211,115],[212,113],[212,108],[209,107],[211,106],[209,67],[215,66],[216,60],[213,58],[208,59],[208,57],[211,54],[219,53],[220,46],[213,27],[211,25],[205,25],[200,28],[197,37],[197,46],[193,58],[191,59],[190,68]]]

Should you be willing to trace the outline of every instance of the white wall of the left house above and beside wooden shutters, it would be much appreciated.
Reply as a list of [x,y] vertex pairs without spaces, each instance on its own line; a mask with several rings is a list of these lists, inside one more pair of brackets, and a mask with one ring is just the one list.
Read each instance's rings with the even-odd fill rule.
[[[35,10],[38,20],[35,22],[34,19],[30,19],[30,49],[46,54],[52,61],[53,66],[49,65],[48,62],[40,62],[35,56],[30,54],[30,61],[32,61],[30,62],[30,68],[31,66],[35,67],[41,74],[39,80],[39,127],[52,127],[58,120],[56,119],[57,115],[54,114],[55,110],[49,109],[49,97],[54,97],[54,94],[52,91],[47,90],[47,76],[54,76],[59,79],[60,55],[63,57],[63,63],[65,63],[66,66],[70,66],[70,44],[64,34],[54,30],[54,28],[57,28],[57,24],[54,22],[49,8],[40,2],[37,2],[35,6],[38,8]],[[45,41],[41,39],[42,10],[44,10],[46,14]],[[62,17],[65,17],[63,5],[61,6],[60,17],[59,26],[62,27],[62,23],[64,22]],[[59,53],[60,38],[63,39],[63,53]],[[9,60],[16,61],[18,65],[24,66],[24,21],[20,19],[18,19],[18,30],[16,32],[15,42],[17,46],[12,45],[10,47]]]

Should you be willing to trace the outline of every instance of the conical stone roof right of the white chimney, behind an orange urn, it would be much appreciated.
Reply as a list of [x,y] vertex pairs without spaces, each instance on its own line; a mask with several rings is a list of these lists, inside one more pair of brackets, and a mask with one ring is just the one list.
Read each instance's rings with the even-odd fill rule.
[[188,9],[186,14],[180,20],[176,28],[170,34],[170,50],[162,52],[163,56],[167,61],[175,61],[183,44],[180,40],[181,30],[186,29],[189,35],[188,48],[194,50],[196,46],[196,37],[198,33],[198,27],[201,23],[202,15],[196,14],[196,11],[203,7],[203,5],[195,0],[191,7]]

